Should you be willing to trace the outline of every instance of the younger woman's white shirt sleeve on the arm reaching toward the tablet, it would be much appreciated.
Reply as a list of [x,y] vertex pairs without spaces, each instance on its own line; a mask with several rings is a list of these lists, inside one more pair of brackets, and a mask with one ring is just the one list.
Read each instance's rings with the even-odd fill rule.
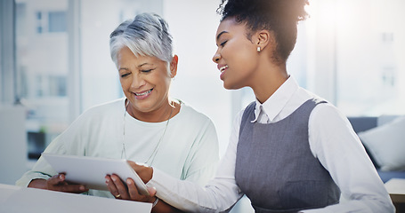
[[148,186],[157,189],[158,198],[177,209],[190,212],[223,212],[239,201],[243,193],[235,181],[236,151],[241,115],[235,119],[228,148],[214,179],[204,187],[190,181],[178,180],[153,169]]

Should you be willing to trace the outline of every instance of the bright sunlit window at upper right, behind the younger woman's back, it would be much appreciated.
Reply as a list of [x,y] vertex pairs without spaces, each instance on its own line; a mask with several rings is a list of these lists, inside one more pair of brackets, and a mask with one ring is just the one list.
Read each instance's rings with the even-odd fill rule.
[[337,106],[350,115],[405,114],[405,3],[336,1]]

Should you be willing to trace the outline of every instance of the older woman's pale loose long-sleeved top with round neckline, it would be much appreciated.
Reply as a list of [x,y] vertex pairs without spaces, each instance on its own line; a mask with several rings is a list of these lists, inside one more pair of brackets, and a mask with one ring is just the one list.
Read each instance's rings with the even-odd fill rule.
[[[120,159],[125,142],[126,159],[134,162],[147,162],[150,159],[150,166],[165,171],[175,179],[206,185],[214,176],[219,161],[214,123],[206,115],[181,102],[179,114],[170,119],[162,137],[166,125],[167,122],[134,119],[126,113],[125,99],[117,99],[94,106],[81,114],[46,147],[45,153]],[[155,150],[156,157],[150,158]],[[24,174],[17,185],[26,186],[32,179],[47,179],[55,174],[51,166],[39,158],[33,170]],[[91,190],[89,193],[112,197],[107,191]]]

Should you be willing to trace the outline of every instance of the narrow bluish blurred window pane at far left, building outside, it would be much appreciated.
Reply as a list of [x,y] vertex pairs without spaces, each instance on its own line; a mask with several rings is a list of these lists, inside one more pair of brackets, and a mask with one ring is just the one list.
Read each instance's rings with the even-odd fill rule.
[[28,157],[69,125],[68,0],[16,1],[16,97],[27,108]]

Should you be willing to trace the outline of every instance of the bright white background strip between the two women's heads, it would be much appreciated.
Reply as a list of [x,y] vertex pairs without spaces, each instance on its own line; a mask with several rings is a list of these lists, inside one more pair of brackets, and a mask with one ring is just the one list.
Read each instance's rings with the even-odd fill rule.
[[174,53],[179,56],[171,94],[213,120],[223,153],[234,114],[231,112],[231,91],[223,88],[220,72],[212,60],[220,20],[215,12],[218,2],[164,1],[163,16],[174,37]]

